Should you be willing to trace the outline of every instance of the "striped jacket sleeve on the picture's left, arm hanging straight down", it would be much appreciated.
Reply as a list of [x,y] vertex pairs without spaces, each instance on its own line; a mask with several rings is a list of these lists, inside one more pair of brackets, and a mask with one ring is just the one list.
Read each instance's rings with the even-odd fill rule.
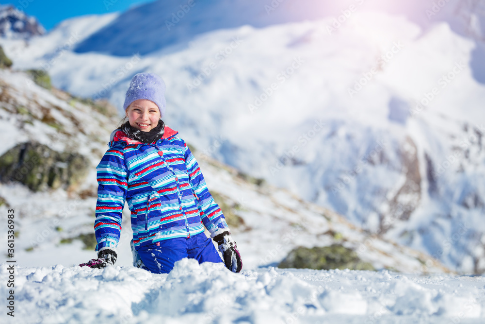
[[109,149],[96,167],[96,250],[116,249],[121,235],[122,210],[128,190],[128,172],[120,148]]

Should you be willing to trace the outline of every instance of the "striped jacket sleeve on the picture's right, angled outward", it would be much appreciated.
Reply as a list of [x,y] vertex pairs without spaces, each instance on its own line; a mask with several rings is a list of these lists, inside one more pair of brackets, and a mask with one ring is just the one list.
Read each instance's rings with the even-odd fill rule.
[[189,173],[189,182],[192,184],[194,190],[197,207],[200,212],[202,223],[210,232],[211,237],[214,235],[229,230],[224,214],[219,205],[216,204],[212,195],[207,188],[204,176],[200,171],[199,164],[195,160],[194,155],[190,152],[189,147],[185,144],[185,165]]

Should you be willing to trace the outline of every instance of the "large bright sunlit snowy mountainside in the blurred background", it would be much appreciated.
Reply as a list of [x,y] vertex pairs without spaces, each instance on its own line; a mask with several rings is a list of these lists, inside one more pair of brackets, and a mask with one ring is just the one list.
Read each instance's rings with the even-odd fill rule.
[[[453,18],[452,2],[433,19]],[[208,155],[219,161],[455,270],[481,273],[480,37],[452,22],[428,19],[423,28],[363,9],[331,32],[331,17],[243,26],[144,56],[65,51],[48,71],[54,85],[117,106],[133,74],[159,73],[168,124],[199,150],[216,143]],[[29,68],[46,62],[57,42],[49,37],[32,51],[1,44],[15,52],[15,67]]]

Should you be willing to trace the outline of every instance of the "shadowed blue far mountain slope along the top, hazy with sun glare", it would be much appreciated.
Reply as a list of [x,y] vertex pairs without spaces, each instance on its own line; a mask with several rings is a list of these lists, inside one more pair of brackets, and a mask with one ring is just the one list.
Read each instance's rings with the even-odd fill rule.
[[[480,0],[158,0],[139,5],[122,13],[110,24],[83,40],[75,51],[96,51],[129,56],[133,51],[147,54],[207,32],[244,25],[263,28],[275,24],[318,20],[323,17],[351,17],[355,11],[383,11],[405,15],[422,28],[436,21],[447,21],[461,34],[482,38],[485,10]],[[472,15],[470,16],[470,13]],[[130,28],[126,28],[129,26]]]

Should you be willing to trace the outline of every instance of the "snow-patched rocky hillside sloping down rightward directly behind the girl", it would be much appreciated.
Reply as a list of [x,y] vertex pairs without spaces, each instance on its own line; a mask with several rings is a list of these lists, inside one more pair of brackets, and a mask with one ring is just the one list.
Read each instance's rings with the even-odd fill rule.
[[[83,250],[81,240],[93,233],[97,199],[95,166],[107,149],[106,142],[116,127],[116,119],[59,90],[51,93],[29,81],[23,73],[0,71],[0,123],[10,136],[2,142],[0,154],[17,143],[38,141],[56,151],[75,150],[89,158],[91,167],[86,180],[75,190],[32,192],[18,183],[2,184],[0,210],[6,213],[7,209],[15,209],[18,220],[15,256],[19,265],[79,264],[95,255],[93,248]],[[51,118],[45,118],[46,115]],[[76,123],[72,124],[74,119]],[[49,125],[45,120],[49,120]],[[8,128],[19,124],[23,126]],[[244,256],[245,269],[278,263],[297,246],[338,242],[355,250],[362,260],[371,262],[377,269],[449,272],[433,258],[392,241],[371,237],[338,214],[305,202],[287,190],[252,183],[239,171],[211,159],[203,151],[194,154],[210,191],[223,199],[225,208],[242,218],[242,226],[234,227],[232,232]],[[28,204],[25,204],[26,197]],[[129,211],[125,210],[124,215],[117,264],[130,266]],[[6,225],[1,225],[4,233]]]

